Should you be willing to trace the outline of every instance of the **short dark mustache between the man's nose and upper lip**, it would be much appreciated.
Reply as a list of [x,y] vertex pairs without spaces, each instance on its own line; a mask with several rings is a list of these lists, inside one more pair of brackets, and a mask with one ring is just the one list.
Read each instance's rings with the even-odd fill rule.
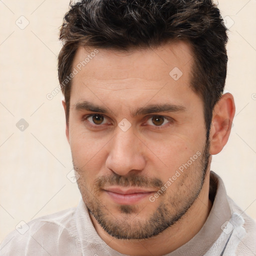
[[119,185],[123,187],[153,187],[160,189],[163,186],[163,182],[158,178],[150,178],[137,174],[129,174],[124,176],[113,173],[109,176],[98,177],[93,184],[94,187],[99,189],[110,185]]

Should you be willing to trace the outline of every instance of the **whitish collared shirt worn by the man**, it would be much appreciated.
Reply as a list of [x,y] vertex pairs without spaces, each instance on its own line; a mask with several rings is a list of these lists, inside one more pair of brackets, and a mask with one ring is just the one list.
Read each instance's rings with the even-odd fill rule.
[[[221,178],[210,173],[214,202],[206,222],[187,243],[165,256],[256,255],[256,223],[227,195]],[[215,194],[215,196],[214,196]],[[0,244],[0,256],[123,256],[97,234],[82,199],[76,208],[29,221]],[[150,248],[147,248],[150,251]]]

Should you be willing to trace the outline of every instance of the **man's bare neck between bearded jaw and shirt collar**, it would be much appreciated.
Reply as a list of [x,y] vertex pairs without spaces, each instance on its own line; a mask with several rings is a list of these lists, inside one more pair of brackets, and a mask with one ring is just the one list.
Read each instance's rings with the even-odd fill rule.
[[170,253],[188,242],[205,223],[210,209],[209,171],[205,177],[202,189],[187,212],[172,226],[160,234],[143,240],[124,240],[110,236],[90,214],[94,227],[101,239],[112,249],[131,256],[164,255]]

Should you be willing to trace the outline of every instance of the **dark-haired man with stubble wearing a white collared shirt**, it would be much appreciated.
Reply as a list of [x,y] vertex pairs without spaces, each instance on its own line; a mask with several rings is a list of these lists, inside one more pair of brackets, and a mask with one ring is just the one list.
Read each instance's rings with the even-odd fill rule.
[[210,171],[234,101],[210,0],[82,0],[58,76],[81,200],[12,232],[0,255],[256,255],[255,222]]

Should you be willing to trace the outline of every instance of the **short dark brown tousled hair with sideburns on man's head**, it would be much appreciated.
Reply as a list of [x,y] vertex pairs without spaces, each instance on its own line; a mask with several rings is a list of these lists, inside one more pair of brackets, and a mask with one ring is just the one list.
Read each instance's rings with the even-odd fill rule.
[[80,0],[69,3],[60,28],[58,79],[68,122],[72,62],[79,46],[129,50],[185,40],[193,49],[191,87],[204,104],[207,137],[226,78],[226,27],[211,0]]

